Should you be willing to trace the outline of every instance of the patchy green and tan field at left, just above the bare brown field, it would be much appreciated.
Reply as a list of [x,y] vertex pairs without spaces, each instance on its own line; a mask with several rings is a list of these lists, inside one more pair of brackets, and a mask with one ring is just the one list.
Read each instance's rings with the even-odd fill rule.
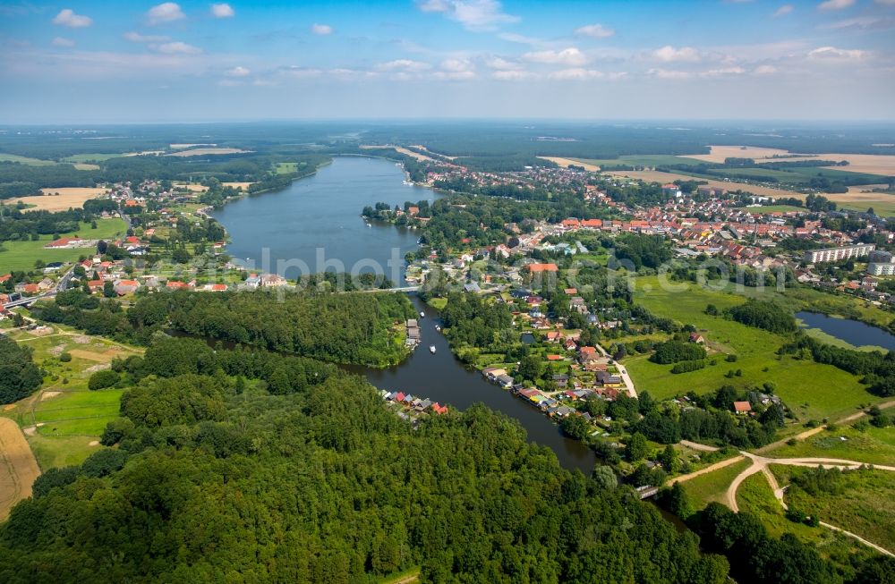
[[[34,360],[47,377],[37,393],[6,406],[2,415],[22,428],[41,469],[80,463],[100,447],[99,436],[117,417],[124,393],[90,391],[90,376],[108,368],[113,359],[140,351],[64,326],[42,329],[39,334],[15,331],[10,337],[34,350]],[[63,353],[72,360],[61,360]]]

